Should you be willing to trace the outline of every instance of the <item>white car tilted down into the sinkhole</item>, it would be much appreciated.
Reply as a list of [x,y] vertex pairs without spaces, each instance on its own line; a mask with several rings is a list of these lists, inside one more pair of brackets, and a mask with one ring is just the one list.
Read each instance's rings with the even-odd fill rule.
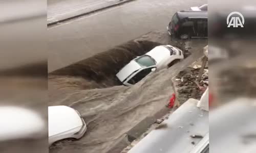
[[171,45],[156,46],[125,65],[116,77],[125,86],[134,85],[150,72],[168,68],[181,59],[184,59],[184,56],[179,48]]

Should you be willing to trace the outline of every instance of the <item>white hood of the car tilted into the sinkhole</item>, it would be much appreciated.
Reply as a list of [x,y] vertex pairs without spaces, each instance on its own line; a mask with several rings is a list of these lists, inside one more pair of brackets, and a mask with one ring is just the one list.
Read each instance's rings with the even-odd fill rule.
[[151,56],[158,64],[170,56],[170,51],[164,46],[157,46],[153,48],[150,52],[148,52],[146,55]]

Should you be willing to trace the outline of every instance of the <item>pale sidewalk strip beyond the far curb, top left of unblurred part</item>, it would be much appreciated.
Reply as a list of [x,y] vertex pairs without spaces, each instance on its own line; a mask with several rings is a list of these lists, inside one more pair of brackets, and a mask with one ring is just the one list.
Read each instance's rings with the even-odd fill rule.
[[48,0],[47,24],[87,15],[135,0]]

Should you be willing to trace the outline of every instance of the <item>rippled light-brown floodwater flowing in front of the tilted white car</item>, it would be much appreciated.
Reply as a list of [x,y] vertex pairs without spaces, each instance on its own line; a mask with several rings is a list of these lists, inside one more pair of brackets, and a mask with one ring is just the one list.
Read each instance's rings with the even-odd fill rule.
[[[157,41],[154,37],[155,41],[166,41],[167,33],[147,34],[138,40],[152,40],[150,38],[156,34],[162,39]],[[82,89],[80,85],[88,85],[88,80],[81,78],[82,75],[73,75],[74,71],[82,70],[77,64],[72,71],[67,67],[58,73],[50,73],[49,105],[66,105],[78,110],[88,125],[86,134],[80,140],[57,143],[51,147],[50,152],[113,152],[110,149],[123,140],[135,125],[165,108],[174,92],[172,78],[203,56],[202,48],[206,43],[206,40],[189,41],[186,44],[192,48],[188,58],[169,69],[152,73],[130,87],[114,85],[101,89]],[[61,71],[66,73],[61,74]],[[55,77],[51,78],[53,75]],[[58,82],[55,78],[59,79]]]

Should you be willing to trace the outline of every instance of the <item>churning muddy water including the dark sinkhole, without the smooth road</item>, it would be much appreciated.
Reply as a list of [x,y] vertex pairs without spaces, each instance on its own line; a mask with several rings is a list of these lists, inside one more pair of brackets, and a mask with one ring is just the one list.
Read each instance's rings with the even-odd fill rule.
[[196,42],[192,54],[169,69],[149,74],[131,87],[117,86],[119,83],[112,79],[118,69],[135,56],[168,41],[166,33],[161,38],[150,35],[141,38],[143,41],[136,39],[139,41],[128,43],[135,46],[121,45],[108,50],[119,55],[118,58],[102,53],[90,62],[86,59],[49,74],[49,105],[66,105],[78,110],[88,126],[80,140],[54,144],[50,152],[108,152],[133,126],[165,107],[174,92],[171,79],[203,55],[205,43]]

